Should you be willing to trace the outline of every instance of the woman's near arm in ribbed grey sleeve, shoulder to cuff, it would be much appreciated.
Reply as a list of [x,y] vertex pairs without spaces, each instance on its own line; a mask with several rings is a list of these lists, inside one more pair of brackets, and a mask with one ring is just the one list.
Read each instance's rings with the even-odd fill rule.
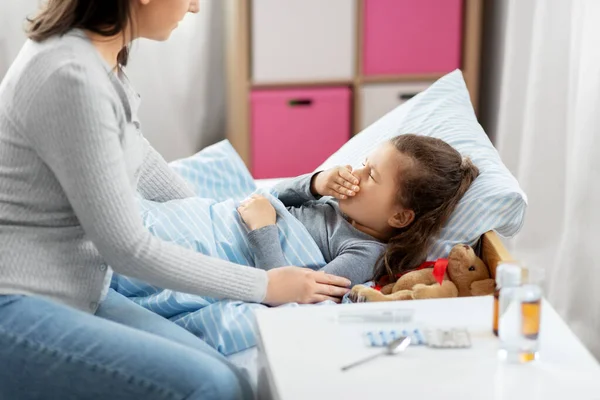
[[265,271],[210,258],[152,236],[142,225],[111,88],[66,61],[43,84],[24,132],[53,171],[100,255],[118,273],[187,293],[260,302]]

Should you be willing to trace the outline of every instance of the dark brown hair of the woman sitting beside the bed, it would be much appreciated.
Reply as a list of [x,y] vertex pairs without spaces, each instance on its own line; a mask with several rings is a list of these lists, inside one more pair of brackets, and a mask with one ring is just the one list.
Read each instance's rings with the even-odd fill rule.
[[[28,18],[27,36],[41,42],[71,29],[86,29],[110,37],[133,27],[130,0],[47,0],[39,13]],[[127,65],[129,49],[124,39],[117,57],[119,65]]]

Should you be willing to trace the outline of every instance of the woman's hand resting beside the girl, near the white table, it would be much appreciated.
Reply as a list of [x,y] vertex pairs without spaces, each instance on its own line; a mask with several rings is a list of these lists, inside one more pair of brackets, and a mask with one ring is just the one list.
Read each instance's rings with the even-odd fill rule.
[[272,306],[284,303],[311,304],[325,300],[339,303],[350,286],[346,278],[307,268],[275,268],[269,270],[267,275],[269,284],[263,303]]

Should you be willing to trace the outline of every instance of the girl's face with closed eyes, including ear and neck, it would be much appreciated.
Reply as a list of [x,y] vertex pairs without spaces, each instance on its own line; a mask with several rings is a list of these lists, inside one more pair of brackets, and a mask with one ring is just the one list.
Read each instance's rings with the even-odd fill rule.
[[397,196],[402,171],[412,165],[410,157],[391,143],[384,143],[367,157],[362,168],[352,172],[360,180],[360,191],[340,200],[340,209],[355,226],[366,228],[361,230],[378,238],[387,238],[395,228],[409,225],[414,212],[397,204]]

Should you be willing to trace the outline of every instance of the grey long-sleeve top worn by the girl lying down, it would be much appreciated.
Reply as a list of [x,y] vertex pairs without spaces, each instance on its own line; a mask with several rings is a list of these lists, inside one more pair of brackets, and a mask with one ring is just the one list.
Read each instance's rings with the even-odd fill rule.
[[[310,191],[313,174],[286,179],[275,186],[279,200],[308,230],[327,265],[321,268],[343,276],[352,285],[373,278],[373,268],[385,244],[352,226],[333,199],[317,200]],[[250,232],[256,266],[265,270],[287,265],[276,225]]]

